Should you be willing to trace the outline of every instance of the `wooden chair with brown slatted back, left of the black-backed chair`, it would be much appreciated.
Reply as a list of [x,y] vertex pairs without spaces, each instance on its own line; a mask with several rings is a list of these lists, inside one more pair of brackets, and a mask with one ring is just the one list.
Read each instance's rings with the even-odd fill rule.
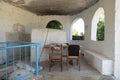
[[62,45],[51,45],[49,50],[49,71],[51,71],[52,64],[55,61],[60,62],[62,71]]

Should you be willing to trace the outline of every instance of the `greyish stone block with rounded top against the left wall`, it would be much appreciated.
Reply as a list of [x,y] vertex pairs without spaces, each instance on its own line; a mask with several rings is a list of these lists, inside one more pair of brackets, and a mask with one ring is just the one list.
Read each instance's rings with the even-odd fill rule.
[[13,25],[12,32],[6,32],[6,41],[30,42],[31,35],[25,32],[24,25],[16,23]]

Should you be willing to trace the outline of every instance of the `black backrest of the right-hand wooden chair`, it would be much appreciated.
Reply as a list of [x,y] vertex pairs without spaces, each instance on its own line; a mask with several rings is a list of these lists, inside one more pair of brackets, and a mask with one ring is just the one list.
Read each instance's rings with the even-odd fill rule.
[[79,56],[80,46],[71,44],[68,46],[68,55],[69,56]]

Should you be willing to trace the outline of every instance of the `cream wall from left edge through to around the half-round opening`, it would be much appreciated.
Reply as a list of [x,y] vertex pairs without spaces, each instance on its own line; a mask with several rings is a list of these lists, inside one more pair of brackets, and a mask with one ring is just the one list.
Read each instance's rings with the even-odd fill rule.
[[[71,16],[37,16],[31,12],[0,1],[0,42],[6,41],[6,32],[13,31],[13,25],[20,23],[25,27],[26,33],[31,33],[33,28],[45,28],[49,21],[58,20],[63,25],[63,31],[69,39]],[[60,35],[61,36],[61,35]],[[0,62],[2,61],[0,56]]]

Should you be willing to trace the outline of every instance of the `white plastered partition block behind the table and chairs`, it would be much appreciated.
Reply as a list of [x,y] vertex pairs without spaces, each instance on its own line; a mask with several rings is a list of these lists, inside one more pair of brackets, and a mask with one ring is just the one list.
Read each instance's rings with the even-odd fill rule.
[[[50,43],[66,43],[66,32],[57,29],[33,29],[31,34],[31,41],[40,43],[39,58],[40,61],[46,61],[48,57],[48,49],[43,48],[44,45]],[[32,61],[35,61],[35,53],[32,53]]]

